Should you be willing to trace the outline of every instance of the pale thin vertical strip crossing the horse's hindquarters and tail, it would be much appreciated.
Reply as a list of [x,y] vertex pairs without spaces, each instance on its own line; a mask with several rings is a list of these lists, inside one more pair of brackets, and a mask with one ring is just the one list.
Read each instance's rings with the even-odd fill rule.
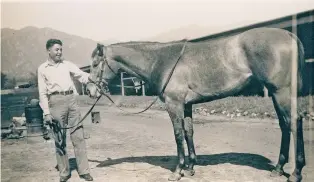
[[[297,17],[296,15],[292,16],[292,33],[295,34],[296,36],[297,34]],[[294,128],[294,130],[296,130],[297,127],[297,84],[298,84],[298,80],[297,80],[297,73],[298,73],[298,45],[294,44],[294,40],[291,39],[291,46],[292,46],[292,56],[291,56],[291,129]],[[293,127],[293,128],[292,128]],[[296,163],[295,163],[295,158],[296,158],[296,153],[297,153],[297,141],[293,139],[293,137],[297,137],[297,136],[293,136],[293,134],[290,135],[290,150],[291,151],[291,157],[293,160],[290,160],[292,162],[292,164],[294,164],[294,168],[296,167]],[[293,169],[294,169],[293,168]]]

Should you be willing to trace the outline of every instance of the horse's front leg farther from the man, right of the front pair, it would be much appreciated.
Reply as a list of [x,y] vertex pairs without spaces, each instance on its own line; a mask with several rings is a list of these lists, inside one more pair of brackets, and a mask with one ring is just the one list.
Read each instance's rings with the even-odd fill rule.
[[193,119],[192,119],[192,104],[186,104],[184,109],[184,136],[185,141],[188,146],[189,152],[189,164],[188,169],[185,170],[185,175],[193,176],[195,171],[193,169],[196,163],[196,154],[194,148],[194,141],[193,141]]

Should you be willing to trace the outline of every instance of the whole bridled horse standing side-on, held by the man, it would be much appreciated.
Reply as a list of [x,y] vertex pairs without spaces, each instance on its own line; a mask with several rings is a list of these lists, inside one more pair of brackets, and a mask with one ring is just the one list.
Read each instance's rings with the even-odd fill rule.
[[[295,55],[295,59],[293,59]],[[91,56],[90,79],[108,85],[121,70],[145,81],[159,94],[173,125],[178,162],[169,181],[194,175],[192,105],[234,96],[253,80],[271,95],[281,129],[279,159],[271,176],[284,174],[290,135],[295,143],[295,168],[288,181],[302,180],[305,153],[302,114],[291,119],[292,61],[297,61],[297,94],[302,88],[304,48],[293,33],[276,28],[255,28],[226,38],[203,42],[125,42],[97,44]],[[295,87],[294,87],[295,88]],[[100,95],[97,85],[87,85],[90,97]],[[188,148],[185,161],[184,140]]]

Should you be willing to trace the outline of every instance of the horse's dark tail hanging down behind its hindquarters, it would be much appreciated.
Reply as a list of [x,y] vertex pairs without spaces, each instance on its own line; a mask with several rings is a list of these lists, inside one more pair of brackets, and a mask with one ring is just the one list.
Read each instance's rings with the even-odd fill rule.
[[298,54],[298,95],[303,95],[303,77],[304,77],[304,67],[305,67],[305,59],[304,59],[304,47],[301,40],[293,33],[289,32],[290,36],[297,42],[297,54]]

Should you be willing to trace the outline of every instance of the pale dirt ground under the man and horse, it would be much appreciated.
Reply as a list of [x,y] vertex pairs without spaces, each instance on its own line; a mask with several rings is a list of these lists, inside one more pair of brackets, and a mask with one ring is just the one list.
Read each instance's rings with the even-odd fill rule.
[[[88,107],[82,107],[82,114]],[[130,109],[128,109],[130,110]],[[140,115],[124,114],[116,108],[97,106],[101,123],[85,120],[91,174],[94,181],[167,181],[176,164],[172,125],[165,111],[149,110]],[[314,181],[313,126],[304,123],[307,166],[304,182]],[[313,124],[314,125],[314,124]],[[286,181],[270,177],[278,160],[280,129],[276,120],[227,119],[195,115],[194,142],[198,155],[195,175],[184,181]],[[68,137],[72,177],[83,181],[75,170],[73,147]],[[58,181],[54,143],[39,138],[1,141],[1,181]],[[292,171],[292,164],[285,166]]]

